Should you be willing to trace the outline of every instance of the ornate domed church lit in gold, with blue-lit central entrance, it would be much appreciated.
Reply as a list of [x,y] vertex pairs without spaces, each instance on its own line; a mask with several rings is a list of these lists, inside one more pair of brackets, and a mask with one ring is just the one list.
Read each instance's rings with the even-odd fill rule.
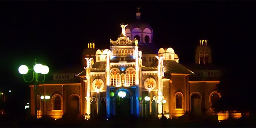
[[[33,102],[31,85],[32,114],[35,106],[38,117],[55,119],[68,112],[76,113],[81,119],[114,115],[161,117],[162,114],[177,118],[186,112],[197,116],[214,114],[211,102],[221,97],[216,92],[219,81],[190,79],[198,70],[192,72],[179,64],[178,55],[171,47],[160,48],[158,53],[154,50],[143,53],[143,48],[153,46],[153,31],[148,24],[140,23],[140,12],[136,16],[137,25],[120,25],[120,37],[115,41],[110,39],[110,49],[96,50],[94,43],[88,44],[82,53],[84,69],[55,73],[52,82],[41,84],[37,105]],[[207,41],[200,41],[200,47],[203,48],[196,50],[196,63],[211,63]],[[57,81],[67,73],[69,79]],[[46,94],[51,99],[40,100]],[[149,102],[140,104],[140,97],[144,102],[145,96],[150,98]]]

